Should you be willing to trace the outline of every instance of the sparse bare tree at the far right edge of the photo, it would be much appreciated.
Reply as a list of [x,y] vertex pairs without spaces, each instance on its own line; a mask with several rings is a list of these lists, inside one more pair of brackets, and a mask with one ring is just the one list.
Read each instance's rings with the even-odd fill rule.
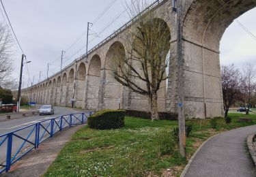
[[242,67],[242,89],[241,94],[244,95],[243,105],[246,108],[246,114],[249,114],[251,101],[256,90],[256,67],[251,63],[246,63]]

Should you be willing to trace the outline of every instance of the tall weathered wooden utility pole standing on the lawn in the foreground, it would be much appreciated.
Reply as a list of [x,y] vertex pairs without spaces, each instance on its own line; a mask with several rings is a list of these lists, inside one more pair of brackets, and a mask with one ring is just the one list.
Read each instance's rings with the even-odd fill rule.
[[182,57],[182,1],[177,0],[177,90],[178,90],[178,119],[180,155],[186,157],[186,131],[184,116],[184,70]]

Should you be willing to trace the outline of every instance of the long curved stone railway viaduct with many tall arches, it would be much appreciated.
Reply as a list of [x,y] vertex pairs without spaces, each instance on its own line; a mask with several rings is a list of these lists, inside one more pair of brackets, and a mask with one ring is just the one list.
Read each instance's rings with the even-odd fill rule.
[[[164,20],[171,35],[168,81],[158,93],[160,112],[176,112],[177,108],[177,16],[172,6],[172,0],[159,0],[143,12],[151,11]],[[182,0],[186,115],[199,118],[223,115],[221,37],[234,19],[255,6],[256,0]],[[109,67],[115,48],[127,54],[130,47],[127,38],[134,27],[136,18],[59,73],[23,89],[22,97],[57,106],[71,106],[75,100],[75,107],[87,110],[150,110],[147,98],[116,82]]]

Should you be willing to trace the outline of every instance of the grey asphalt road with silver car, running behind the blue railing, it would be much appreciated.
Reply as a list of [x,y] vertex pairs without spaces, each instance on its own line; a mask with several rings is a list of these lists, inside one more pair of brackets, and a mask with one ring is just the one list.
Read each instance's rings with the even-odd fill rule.
[[[0,123],[0,135],[3,135],[5,133],[9,133],[11,131],[16,131],[18,129],[22,129],[23,127],[27,127],[29,125],[34,125],[35,123],[47,120],[49,118],[55,118],[58,116],[63,116],[66,114],[74,114],[74,113],[79,113],[79,111],[72,110],[70,108],[63,108],[63,107],[55,107],[55,114],[54,115],[45,115],[45,116],[31,116],[31,117],[25,117],[25,118],[19,118],[15,120],[8,120]],[[49,121],[46,121],[44,125],[48,125]],[[51,126],[50,126],[51,127]],[[49,127],[49,129],[50,129]],[[27,138],[29,133],[33,130],[34,126],[26,128],[24,130],[18,131],[16,134],[19,135],[22,138]],[[35,132],[35,131],[33,131]],[[35,139],[35,133],[32,133],[30,138],[31,142]],[[0,138],[0,143],[3,140],[3,138]],[[12,154],[18,150],[20,145],[23,144],[23,140],[20,140],[20,138],[16,138],[13,136],[13,144],[12,144]],[[29,146],[29,143],[26,143],[25,146]],[[0,163],[5,161],[5,156],[6,156],[6,146],[7,146],[7,141],[0,146]]]

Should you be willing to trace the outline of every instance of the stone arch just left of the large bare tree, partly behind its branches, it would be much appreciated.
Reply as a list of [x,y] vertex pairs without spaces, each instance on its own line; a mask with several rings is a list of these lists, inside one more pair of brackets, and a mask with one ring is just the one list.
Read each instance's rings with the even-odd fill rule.
[[[119,57],[126,57],[126,51],[122,42],[114,42],[108,52],[104,63],[104,85],[99,95],[99,108],[119,109],[122,103],[122,84],[113,77],[112,65],[115,65]],[[104,89],[104,90],[103,90]]]

